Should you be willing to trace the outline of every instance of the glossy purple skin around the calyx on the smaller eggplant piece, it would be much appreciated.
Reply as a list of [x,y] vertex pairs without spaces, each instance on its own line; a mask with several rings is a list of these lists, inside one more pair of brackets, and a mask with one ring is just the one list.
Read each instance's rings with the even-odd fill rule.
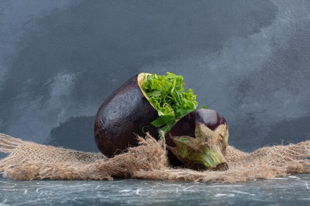
[[[170,136],[190,136],[196,138],[195,127],[197,123],[205,124],[212,131],[214,131],[220,124],[227,125],[225,118],[217,114],[216,111],[199,109],[183,116],[171,127],[166,135],[166,144],[170,147],[176,147],[176,144],[172,141]],[[171,165],[184,165],[173,155],[171,150],[168,149],[167,152]]]

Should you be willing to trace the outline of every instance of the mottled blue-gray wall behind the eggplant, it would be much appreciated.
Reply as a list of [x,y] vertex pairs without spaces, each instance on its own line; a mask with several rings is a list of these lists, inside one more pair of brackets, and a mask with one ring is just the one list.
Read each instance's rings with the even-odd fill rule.
[[183,75],[253,151],[310,134],[308,0],[0,0],[0,132],[97,151],[105,97]]

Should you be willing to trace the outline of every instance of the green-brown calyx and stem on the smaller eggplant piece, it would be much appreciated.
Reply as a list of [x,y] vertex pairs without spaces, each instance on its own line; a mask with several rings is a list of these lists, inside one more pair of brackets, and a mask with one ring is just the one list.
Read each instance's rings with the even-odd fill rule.
[[168,146],[168,148],[185,164],[185,167],[227,170],[228,164],[224,157],[228,141],[227,125],[221,124],[212,131],[205,124],[198,123],[195,127],[195,136],[196,138],[170,135],[176,147]]

